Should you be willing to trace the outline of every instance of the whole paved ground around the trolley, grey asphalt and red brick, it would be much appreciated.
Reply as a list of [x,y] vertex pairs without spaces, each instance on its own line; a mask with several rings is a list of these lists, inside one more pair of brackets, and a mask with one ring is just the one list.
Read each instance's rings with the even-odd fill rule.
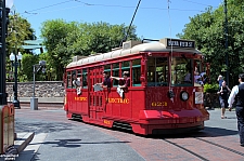
[[236,117],[220,109],[209,110],[204,131],[194,134],[143,137],[67,120],[63,109],[16,110],[17,133],[35,132],[17,161],[196,161],[244,160],[239,145]]

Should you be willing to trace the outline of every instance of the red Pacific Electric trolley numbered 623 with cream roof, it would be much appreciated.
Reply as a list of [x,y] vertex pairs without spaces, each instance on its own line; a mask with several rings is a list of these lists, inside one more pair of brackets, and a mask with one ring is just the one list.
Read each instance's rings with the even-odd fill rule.
[[[119,81],[114,79],[111,89],[94,91],[103,71],[113,77],[129,72],[130,86],[124,96],[117,93]],[[64,109],[67,118],[142,135],[202,130],[209,113],[203,106],[201,71],[206,69],[194,41],[124,42],[108,53],[74,57],[64,77]],[[80,78],[80,93],[73,75]]]

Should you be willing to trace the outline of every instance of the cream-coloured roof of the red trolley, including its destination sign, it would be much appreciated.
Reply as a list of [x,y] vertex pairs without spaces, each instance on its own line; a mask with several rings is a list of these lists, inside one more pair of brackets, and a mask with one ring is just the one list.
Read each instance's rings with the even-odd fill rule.
[[118,48],[108,53],[101,53],[90,56],[75,56],[73,62],[67,65],[67,68],[108,61],[113,58],[129,56],[140,52],[188,52],[202,54],[195,49],[195,42],[182,39],[160,39],[157,42],[142,43],[141,41],[127,41],[123,43],[123,48]]

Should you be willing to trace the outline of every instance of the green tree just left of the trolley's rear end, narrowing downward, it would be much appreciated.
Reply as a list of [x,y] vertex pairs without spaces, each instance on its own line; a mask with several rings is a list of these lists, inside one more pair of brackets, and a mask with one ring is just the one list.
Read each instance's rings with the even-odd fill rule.
[[42,24],[41,36],[44,38],[44,45],[48,50],[49,64],[56,72],[56,80],[63,79],[63,71],[72,58],[68,52],[67,38],[73,31],[74,25],[63,19],[47,21]]

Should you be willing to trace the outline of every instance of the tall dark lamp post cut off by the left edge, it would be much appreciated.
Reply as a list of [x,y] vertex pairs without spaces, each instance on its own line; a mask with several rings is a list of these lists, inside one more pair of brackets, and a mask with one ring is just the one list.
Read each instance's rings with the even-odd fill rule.
[[0,31],[0,40],[1,40],[1,52],[0,52],[0,105],[7,105],[8,94],[5,92],[5,38],[8,31],[8,15],[10,13],[10,9],[13,6],[13,0],[0,0],[0,13],[1,13],[1,31]]

